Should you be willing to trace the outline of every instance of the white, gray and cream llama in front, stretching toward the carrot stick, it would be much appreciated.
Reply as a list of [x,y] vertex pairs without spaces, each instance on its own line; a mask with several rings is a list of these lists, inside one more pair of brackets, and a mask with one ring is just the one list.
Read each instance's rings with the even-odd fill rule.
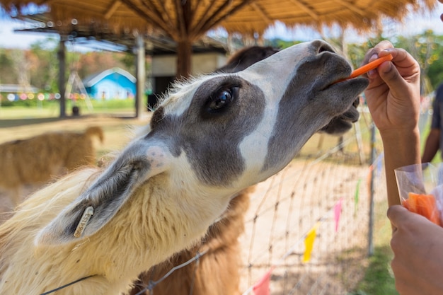
[[368,85],[334,83],[350,72],[314,40],[236,74],[176,85],[108,167],[42,188],[0,226],[0,294],[71,282],[57,294],[128,291],[138,274],[198,243],[232,197],[282,170],[350,108]]

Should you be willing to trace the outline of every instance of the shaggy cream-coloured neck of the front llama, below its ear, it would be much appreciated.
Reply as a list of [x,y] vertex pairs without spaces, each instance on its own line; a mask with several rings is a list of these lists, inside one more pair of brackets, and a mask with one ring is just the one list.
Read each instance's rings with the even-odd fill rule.
[[[167,185],[161,180],[146,184],[122,207],[125,215],[117,213],[103,229],[79,243],[36,248],[38,231],[59,213],[53,212],[54,204],[47,204],[57,202],[61,211],[84,187],[72,183],[59,199],[42,199],[54,195],[50,190],[57,187],[40,191],[34,204],[26,203],[23,211],[0,228],[0,294],[40,294],[94,274],[59,294],[123,291],[140,272],[199,241],[214,212],[227,206],[227,197],[224,204],[222,198],[165,190]],[[8,229],[14,229],[13,233]]]

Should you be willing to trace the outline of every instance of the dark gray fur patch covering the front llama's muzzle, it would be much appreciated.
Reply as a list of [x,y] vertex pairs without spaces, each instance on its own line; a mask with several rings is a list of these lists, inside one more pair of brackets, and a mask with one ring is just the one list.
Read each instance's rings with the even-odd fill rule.
[[367,86],[366,79],[330,86],[334,76],[325,74],[330,69],[337,73],[349,71],[349,66],[345,59],[330,52],[310,57],[299,64],[280,100],[277,123],[269,141],[263,170],[274,166],[281,155],[299,151],[315,132],[350,108]]

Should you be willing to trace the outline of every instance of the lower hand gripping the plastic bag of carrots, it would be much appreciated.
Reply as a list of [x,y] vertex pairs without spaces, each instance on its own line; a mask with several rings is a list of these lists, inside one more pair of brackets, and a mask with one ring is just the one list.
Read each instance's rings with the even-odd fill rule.
[[391,262],[401,295],[443,294],[443,228],[401,205],[388,209],[393,226]]

